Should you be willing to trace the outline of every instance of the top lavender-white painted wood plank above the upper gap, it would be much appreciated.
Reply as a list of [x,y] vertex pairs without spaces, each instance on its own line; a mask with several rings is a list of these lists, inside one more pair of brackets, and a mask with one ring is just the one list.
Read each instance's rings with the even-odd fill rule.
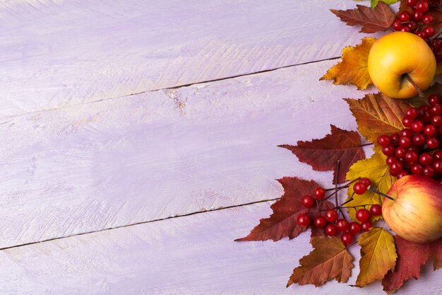
[[0,117],[340,56],[354,1],[0,2]]

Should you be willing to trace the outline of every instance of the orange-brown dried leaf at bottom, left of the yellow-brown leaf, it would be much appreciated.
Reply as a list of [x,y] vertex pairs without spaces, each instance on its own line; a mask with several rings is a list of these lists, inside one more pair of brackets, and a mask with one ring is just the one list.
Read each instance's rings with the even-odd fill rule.
[[321,286],[331,279],[347,282],[353,268],[352,255],[339,238],[324,236],[312,238],[313,251],[299,260],[287,287],[297,283]]

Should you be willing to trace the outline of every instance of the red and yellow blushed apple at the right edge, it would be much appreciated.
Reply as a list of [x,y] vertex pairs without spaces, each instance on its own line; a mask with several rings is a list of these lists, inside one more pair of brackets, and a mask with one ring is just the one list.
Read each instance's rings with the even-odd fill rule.
[[442,237],[442,185],[438,181],[407,175],[396,180],[387,195],[394,201],[383,199],[383,219],[398,236],[415,243]]

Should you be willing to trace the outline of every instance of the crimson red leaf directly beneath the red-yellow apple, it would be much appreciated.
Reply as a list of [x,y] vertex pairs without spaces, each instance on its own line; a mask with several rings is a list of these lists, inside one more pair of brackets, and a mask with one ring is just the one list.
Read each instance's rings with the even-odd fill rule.
[[382,280],[383,290],[388,294],[402,287],[407,279],[419,279],[420,270],[428,260],[433,260],[434,270],[442,267],[442,239],[433,243],[412,243],[395,236],[398,260],[394,271]]

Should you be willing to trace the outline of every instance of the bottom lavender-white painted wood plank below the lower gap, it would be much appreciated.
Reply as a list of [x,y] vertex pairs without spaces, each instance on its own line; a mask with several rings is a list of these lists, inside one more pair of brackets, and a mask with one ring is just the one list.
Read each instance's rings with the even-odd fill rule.
[[[367,295],[357,263],[348,284],[285,288],[298,260],[311,250],[309,233],[294,241],[234,242],[270,204],[224,209],[0,251],[1,294],[64,295]],[[352,251],[356,260],[359,253]],[[398,295],[442,293],[441,271],[424,267]]]

